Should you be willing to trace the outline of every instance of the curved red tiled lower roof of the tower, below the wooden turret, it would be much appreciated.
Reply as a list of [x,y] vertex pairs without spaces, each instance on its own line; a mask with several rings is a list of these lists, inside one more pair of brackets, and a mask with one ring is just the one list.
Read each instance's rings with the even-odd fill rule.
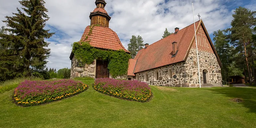
[[[90,26],[87,26],[83,32],[81,41],[90,41],[92,47],[101,48],[101,49],[111,49],[111,50],[124,50],[125,52],[130,53],[124,48],[117,34],[107,27],[94,26],[92,33],[88,36],[90,31]],[[85,40],[86,36],[88,39]]]

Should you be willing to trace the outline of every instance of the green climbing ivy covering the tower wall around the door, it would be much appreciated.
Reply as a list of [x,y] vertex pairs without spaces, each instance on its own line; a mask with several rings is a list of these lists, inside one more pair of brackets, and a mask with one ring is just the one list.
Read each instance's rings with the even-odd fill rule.
[[[90,31],[85,37],[85,40],[88,39],[88,36],[91,35],[92,29],[94,26],[90,26]],[[83,64],[91,64],[94,60],[101,59],[107,60],[109,73],[113,76],[121,76],[127,74],[128,63],[130,55],[127,54],[124,50],[100,50],[92,47],[87,42],[75,42],[73,44],[73,53],[75,59],[80,60]]]

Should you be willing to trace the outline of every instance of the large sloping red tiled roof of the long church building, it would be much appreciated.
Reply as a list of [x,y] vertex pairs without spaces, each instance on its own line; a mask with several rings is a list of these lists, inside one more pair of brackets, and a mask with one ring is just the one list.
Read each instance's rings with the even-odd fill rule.
[[[195,23],[196,28],[200,21]],[[134,59],[138,59],[134,73],[152,68],[182,62],[189,51],[194,36],[194,24],[174,33],[160,41],[149,45],[138,52]],[[172,43],[177,42],[178,53],[172,58]]]

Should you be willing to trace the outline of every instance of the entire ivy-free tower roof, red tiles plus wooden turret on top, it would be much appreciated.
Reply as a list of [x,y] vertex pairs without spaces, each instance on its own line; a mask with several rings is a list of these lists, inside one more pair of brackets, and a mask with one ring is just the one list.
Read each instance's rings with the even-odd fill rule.
[[[91,25],[85,28],[80,42],[89,42],[92,47],[103,50],[124,50],[130,53],[124,48],[117,34],[109,28],[111,17],[104,9],[107,3],[104,0],[96,0],[95,4],[96,8],[89,16]],[[69,58],[72,60],[72,53]]]

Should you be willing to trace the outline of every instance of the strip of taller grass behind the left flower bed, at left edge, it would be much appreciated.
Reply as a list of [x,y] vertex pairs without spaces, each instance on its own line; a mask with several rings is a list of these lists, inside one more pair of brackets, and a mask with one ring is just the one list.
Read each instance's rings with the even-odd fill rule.
[[33,78],[33,77],[23,77],[23,78],[16,78],[12,80],[4,81],[3,83],[0,83],[0,94],[12,90],[18,86],[20,82],[23,82],[25,80],[42,80],[41,78]]

